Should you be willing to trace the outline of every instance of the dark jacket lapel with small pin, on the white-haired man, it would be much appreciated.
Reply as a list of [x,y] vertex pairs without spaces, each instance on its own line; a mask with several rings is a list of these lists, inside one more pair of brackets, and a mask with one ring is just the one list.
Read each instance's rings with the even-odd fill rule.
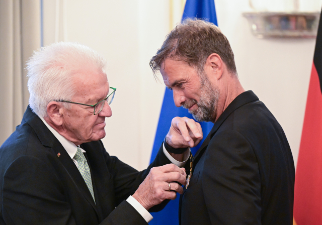
[[50,151],[53,154],[57,155],[57,157],[59,153],[59,160],[66,169],[70,178],[75,182],[79,191],[84,195],[84,197],[98,214],[97,207],[95,205],[91,192],[88,189],[81,173],[79,173],[79,170],[76,167],[75,163],[72,161],[72,159],[70,158],[66,150],[62,147],[60,142],[56,139],[56,137],[48,130],[46,125],[44,125],[41,119],[32,112],[29,105],[24,114],[24,120],[33,128],[42,145],[50,147]]

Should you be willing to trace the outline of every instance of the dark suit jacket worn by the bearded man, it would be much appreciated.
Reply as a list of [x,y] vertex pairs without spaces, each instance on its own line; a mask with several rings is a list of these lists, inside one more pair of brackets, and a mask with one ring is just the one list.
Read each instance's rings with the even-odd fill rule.
[[292,224],[295,170],[285,134],[252,91],[238,95],[195,155],[181,224]]

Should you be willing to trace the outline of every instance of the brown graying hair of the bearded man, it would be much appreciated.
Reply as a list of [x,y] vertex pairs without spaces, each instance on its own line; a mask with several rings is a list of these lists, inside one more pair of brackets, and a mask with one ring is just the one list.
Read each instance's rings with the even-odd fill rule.
[[162,47],[151,58],[150,67],[155,76],[160,65],[170,58],[185,61],[200,73],[212,53],[221,57],[230,73],[237,74],[230,44],[220,29],[207,21],[188,18],[170,32]]

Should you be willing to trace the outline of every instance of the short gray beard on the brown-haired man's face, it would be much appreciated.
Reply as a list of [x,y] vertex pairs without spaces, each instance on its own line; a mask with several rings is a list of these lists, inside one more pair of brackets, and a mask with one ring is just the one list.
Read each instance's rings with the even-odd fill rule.
[[183,103],[184,108],[189,108],[193,104],[197,104],[196,109],[189,110],[192,117],[198,122],[214,121],[216,118],[217,103],[219,99],[219,90],[212,87],[208,78],[205,76],[201,78],[200,100],[195,99],[186,100]]

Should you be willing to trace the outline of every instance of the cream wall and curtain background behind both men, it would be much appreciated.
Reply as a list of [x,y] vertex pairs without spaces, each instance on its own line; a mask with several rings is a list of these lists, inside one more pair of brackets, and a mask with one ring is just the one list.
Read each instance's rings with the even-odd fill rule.
[[[180,22],[184,5],[183,0],[1,0],[0,145],[20,124],[28,105],[28,57],[42,45],[79,42],[107,59],[109,83],[117,88],[113,116],[106,119],[106,150],[144,169],[165,92],[162,76],[154,79],[149,60]],[[322,0],[297,1],[299,11],[320,12],[321,6]],[[242,16],[257,10],[293,11],[291,0],[215,0],[215,7],[241,84],[281,124],[296,164],[315,39],[258,39]]]

